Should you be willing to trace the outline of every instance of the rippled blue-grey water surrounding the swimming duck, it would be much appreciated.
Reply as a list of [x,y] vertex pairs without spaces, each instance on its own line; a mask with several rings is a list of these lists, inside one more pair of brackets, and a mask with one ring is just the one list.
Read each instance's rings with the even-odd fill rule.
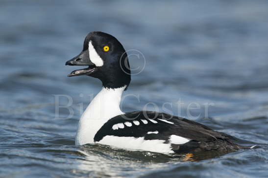
[[[145,56],[144,70],[124,93],[123,111],[148,102],[162,111],[171,102],[170,113],[260,148],[185,161],[74,146],[79,108],[101,83],[68,78],[76,68],[64,64],[90,31],[110,33]],[[73,98],[70,118],[64,108],[55,115],[58,94]],[[189,116],[193,102],[200,109]],[[0,0],[0,177],[81,176],[268,177],[268,1]]]

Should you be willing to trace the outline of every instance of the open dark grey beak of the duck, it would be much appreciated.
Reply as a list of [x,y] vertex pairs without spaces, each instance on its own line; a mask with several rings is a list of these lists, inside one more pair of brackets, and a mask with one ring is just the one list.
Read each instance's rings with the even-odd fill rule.
[[97,70],[97,67],[94,63],[91,62],[89,58],[88,50],[82,51],[78,56],[75,56],[73,59],[67,61],[65,65],[68,66],[88,66],[84,69],[78,69],[72,71],[68,77],[78,76],[78,75],[89,75],[94,73]]

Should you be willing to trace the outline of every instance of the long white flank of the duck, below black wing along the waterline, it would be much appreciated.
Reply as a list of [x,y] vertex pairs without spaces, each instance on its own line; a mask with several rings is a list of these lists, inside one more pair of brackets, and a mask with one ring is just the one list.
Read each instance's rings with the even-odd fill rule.
[[144,137],[106,135],[98,143],[129,150],[142,150],[156,153],[171,154],[171,144],[165,140],[145,140]]

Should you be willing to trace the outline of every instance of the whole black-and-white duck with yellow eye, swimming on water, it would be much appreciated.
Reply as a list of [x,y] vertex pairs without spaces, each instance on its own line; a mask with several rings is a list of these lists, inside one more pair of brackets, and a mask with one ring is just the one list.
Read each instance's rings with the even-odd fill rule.
[[100,143],[164,154],[245,148],[235,144],[233,136],[186,118],[154,111],[122,112],[121,97],[129,86],[131,71],[125,49],[110,34],[89,33],[82,52],[66,65],[86,66],[69,77],[87,75],[102,82],[101,91],[79,120],[76,145]]

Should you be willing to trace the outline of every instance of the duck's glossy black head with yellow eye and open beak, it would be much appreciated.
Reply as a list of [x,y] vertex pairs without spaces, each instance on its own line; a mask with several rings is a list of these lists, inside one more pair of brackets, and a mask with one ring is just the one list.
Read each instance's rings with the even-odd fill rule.
[[128,58],[122,44],[112,35],[103,32],[89,33],[85,38],[82,52],[67,61],[66,65],[88,66],[74,70],[68,76],[95,77],[101,80],[105,88],[128,86],[131,80]]

